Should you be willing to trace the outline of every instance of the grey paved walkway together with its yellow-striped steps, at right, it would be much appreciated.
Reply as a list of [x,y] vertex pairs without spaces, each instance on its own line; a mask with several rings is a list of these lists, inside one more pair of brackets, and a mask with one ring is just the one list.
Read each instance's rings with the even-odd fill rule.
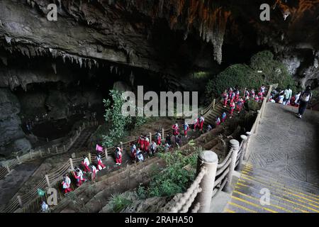
[[[228,213],[319,213],[319,112],[268,103]],[[269,204],[263,204],[264,192]],[[264,201],[264,200],[263,200]]]

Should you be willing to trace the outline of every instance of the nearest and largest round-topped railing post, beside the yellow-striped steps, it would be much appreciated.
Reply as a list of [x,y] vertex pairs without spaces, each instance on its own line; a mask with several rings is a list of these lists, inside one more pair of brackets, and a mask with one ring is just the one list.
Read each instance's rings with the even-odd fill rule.
[[211,209],[211,197],[213,196],[213,187],[216,177],[216,170],[218,165],[218,156],[211,150],[204,150],[197,161],[197,175],[201,172],[201,168],[206,168],[206,174],[201,179],[199,192],[195,198],[195,203],[200,204],[199,213],[208,213]]

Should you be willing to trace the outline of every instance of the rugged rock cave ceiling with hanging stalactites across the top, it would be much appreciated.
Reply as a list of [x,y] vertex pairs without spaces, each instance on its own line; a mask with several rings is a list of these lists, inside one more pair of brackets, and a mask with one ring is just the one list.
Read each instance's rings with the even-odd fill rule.
[[[47,20],[52,2],[57,21]],[[270,21],[259,18],[264,3]],[[315,60],[318,22],[319,0],[3,0],[0,64],[23,55],[50,57],[53,69],[63,60],[89,69],[132,67],[179,77],[260,46],[288,62],[304,51]],[[225,54],[227,45],[237,49]]]

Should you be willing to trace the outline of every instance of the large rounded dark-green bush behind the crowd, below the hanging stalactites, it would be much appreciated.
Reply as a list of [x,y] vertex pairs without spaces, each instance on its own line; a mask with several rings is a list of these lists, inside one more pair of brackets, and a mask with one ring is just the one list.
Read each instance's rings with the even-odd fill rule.
[[[262,72],[257,72],[262,71]],[[206,98],[220,96],[225,89],[238,86],[239,88],[258,89],[262,84],[279,84],[279,88],[291,86],[296,91],[292,77],[286,66],[274,60],[272,52],[265,50],[253,55],[250,65],[230,65],[215,78],[208,81],[206,85]]]

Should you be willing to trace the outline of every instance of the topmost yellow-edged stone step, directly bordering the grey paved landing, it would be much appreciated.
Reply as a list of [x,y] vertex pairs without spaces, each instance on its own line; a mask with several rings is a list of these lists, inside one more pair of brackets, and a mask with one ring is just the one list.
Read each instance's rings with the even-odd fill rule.
[[277,182],[278,184],[286,185],[287,187],[292,187],[294,189],[301,190],[303,192],[308,192],[310,194],[315,194],[319,198],[319,187],[315,184],[309,182],[303,182],[298,179],[293,179],[291,177],[286,177],[278,175],[278,172],[272,172],[271,170],[264,170],[262,168],[251,167],[246,165],[242,174],[248,175],[251,177],[257,177],[259,179],[268,179],[272,182]]

